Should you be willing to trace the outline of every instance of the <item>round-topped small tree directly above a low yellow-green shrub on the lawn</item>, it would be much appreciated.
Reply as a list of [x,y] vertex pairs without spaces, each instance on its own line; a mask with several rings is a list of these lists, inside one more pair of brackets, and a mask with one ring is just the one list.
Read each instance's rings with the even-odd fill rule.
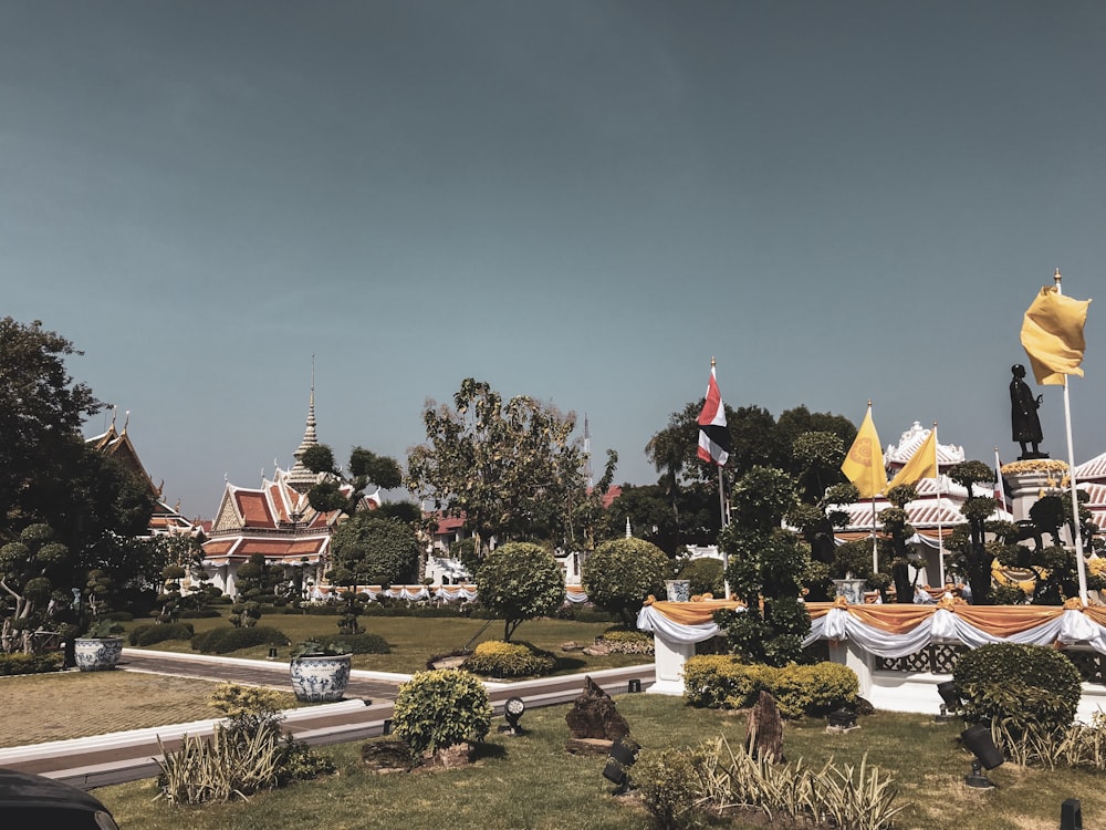
[[564,573],[540,544],[508,542],[484,557],[477,574],[480,603],[503,618],[503,640],[526,620],[547,616],[564,604]]

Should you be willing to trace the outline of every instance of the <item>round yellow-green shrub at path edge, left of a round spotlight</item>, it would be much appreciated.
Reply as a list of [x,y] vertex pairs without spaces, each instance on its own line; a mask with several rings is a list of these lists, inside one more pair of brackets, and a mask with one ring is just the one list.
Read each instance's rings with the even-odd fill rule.
[[476,675],[459,668],[419,672],[399,687],[392,716],[396,737],[416,755],[481,740],[491,703]]

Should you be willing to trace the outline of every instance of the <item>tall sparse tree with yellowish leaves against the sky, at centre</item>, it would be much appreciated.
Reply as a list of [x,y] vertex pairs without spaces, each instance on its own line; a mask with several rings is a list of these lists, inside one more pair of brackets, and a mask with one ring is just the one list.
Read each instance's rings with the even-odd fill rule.
[[422,421],[426,443],[408,454],[407,488],[463,518],[478,553],[492,538],[564,544],[571,537],[571,516],[586,497],[574,414],[525,395],[504,403],[469,377],[452,406],[431,401]]

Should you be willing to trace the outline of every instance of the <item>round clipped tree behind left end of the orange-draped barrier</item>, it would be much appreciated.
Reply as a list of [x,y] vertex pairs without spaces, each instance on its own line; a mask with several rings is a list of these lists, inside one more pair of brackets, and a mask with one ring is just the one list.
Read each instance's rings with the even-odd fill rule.
[[592,602],[632,626],[641,602],[659,594],[669,575],[668,557],[660,548],[644,539],[624,538],[595,549],[584,562],[583,582]]

